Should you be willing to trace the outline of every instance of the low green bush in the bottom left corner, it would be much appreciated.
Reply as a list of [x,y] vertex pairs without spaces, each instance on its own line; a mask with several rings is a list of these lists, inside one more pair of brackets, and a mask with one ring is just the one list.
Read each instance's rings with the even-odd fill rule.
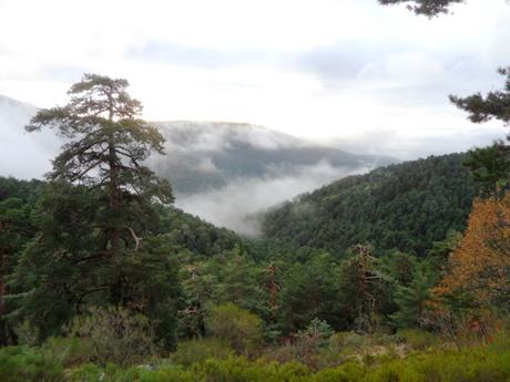
[[61,382],[63,368],[57,361],[26,347],[0,349],[0,381]]

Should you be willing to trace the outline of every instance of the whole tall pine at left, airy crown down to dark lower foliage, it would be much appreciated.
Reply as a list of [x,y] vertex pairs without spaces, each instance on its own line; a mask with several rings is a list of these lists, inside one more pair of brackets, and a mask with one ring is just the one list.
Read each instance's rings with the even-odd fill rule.
[[12,276],[18,309],[40,338],[92,306],[146,314],[167,348],[180,303],[177,267],[159,236],[160,207],[172,189],[143,165],[163,137],[139,118],[128,81],[85,74],[63,107],[41,110],[27,130],[57,130],[67,143],[33,213],[38,235]]

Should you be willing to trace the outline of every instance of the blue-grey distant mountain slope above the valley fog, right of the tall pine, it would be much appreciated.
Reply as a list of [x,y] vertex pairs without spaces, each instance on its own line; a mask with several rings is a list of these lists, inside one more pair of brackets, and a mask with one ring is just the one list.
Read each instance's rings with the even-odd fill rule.
[[[355,155],[262,126],[226,122],[160,122],[167,156],[150,159],[177,193],[203,193],[238,178],[297,175],[304,166],[326,164],[341,173],[395,163],[395,158]],[[330,179],[326,179],[327,183]]]

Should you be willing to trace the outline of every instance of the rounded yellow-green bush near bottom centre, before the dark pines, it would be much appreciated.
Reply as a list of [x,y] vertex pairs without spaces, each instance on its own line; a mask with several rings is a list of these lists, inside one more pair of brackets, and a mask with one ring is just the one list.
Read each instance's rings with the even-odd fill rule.
[[214,307],[205,324],[207,333],[227,341],[238,354],[253,354],[263,343],[262,320],[233,303]]

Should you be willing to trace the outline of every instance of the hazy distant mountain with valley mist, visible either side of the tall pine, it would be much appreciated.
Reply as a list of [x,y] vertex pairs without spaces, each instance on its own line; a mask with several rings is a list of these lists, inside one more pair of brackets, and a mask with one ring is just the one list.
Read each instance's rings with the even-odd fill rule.
[[[42,178],[62,142],[54,132],[27,133],[37,107],[0,96],[0,175]],[[223,122],[159,122],[167,155],[147,165],[170,178],[176,206],[217,226],[256,235],[247,218],[299,193],[396,159],[356,155],[262,126]]]

